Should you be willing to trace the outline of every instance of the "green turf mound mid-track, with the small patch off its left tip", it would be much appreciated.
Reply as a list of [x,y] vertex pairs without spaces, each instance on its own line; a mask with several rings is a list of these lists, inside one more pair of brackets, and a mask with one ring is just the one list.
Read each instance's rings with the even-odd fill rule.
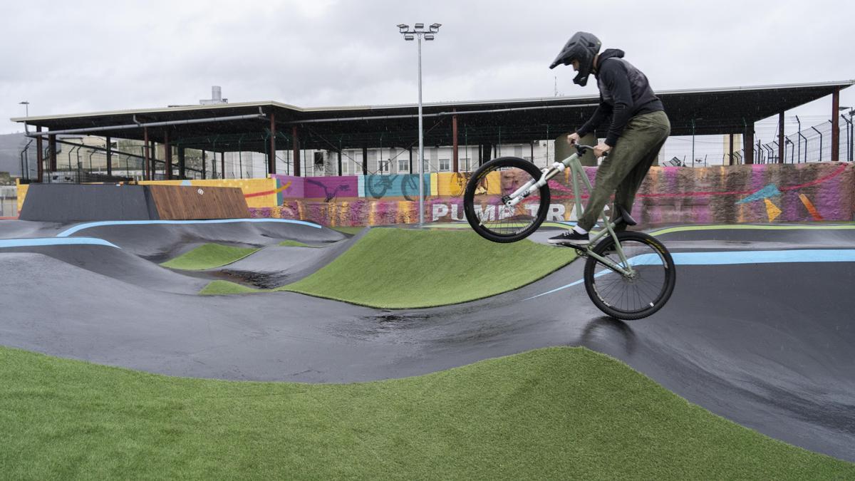
[[[501,294],[569,264],[571,249],[531,241],[497,244],[473,232],[371,229],[354,246],[287,290],[382,309],[444,306]],[[237,294],[217,282],[200,294]]]

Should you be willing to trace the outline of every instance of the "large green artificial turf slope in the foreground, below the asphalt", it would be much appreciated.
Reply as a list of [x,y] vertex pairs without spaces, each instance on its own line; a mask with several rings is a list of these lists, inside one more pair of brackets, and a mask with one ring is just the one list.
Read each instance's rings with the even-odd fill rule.
[[0,347],[9,479],[844,479],[584,348],[358,384],[163,377]]

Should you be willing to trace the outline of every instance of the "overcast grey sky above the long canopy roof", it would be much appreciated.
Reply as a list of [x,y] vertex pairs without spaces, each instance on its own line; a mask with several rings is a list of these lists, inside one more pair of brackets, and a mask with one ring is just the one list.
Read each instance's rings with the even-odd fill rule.
[[[413,104],[416,45],[398,23],[442,24],[423,45],[425,102],[595,94],[549,70],[577,30],[626,50],[657,90],[855,79],[855,3],[195,0],[0,6],[0,133],[9,117],[230,102]],[[855,87],[841,93],[855,105]],[[825,99],[789,114],[826,116]],[[817,117],[818,118],[818,117]]]

